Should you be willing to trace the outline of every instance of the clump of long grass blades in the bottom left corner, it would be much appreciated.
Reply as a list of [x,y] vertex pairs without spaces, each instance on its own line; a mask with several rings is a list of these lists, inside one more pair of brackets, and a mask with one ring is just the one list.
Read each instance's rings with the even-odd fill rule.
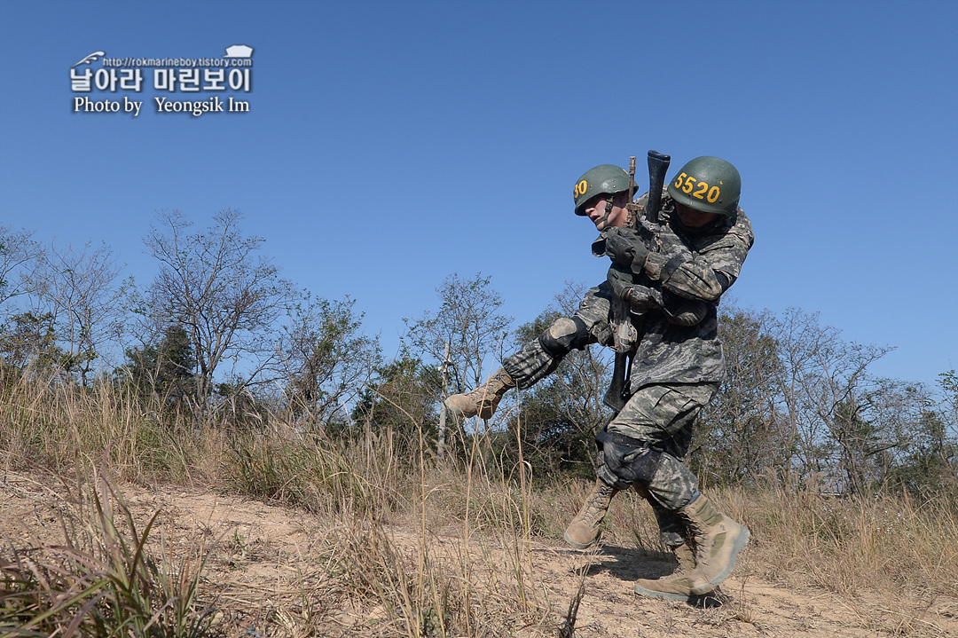
[[138,530],[104,474],[78,475],[64,489],[63,542],[34,538],[0,557],[0,637],[205,635],[213,614],[199,602],[207,548],[151,554],[155,514]]

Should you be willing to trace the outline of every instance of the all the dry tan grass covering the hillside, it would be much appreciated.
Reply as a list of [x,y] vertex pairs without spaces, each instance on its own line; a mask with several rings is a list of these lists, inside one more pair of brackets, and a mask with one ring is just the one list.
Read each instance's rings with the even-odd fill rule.
[[[0,381],[0,467],[61,476],[102,468],[95,481],[73,481],[62,542],[8,541],[0,549],[7,590],[0,636],[107,636],[121,627],[133,627],[133,635],[218,635],[237,628],[231,607],[260,604],[270,609],[270,635],[574,632],[575,597],[572,604],[549,600],[530,541],[559,538],[589,486],[556,481],[533,490],[530,467],[503,465],[479,438],[439,467],[422,442],[418,458],[399,453],[388,430],[332,441],[270,418],[238,431],[150,416],[155,406],[106,384]],[[96,466],[89,459],[98,459]],[[323,516],[328,531],[294,561],[295,586],[238,594],[228,582],[203,579],[202,544],[184,553],[163,538],[148,542],[153,520],[137,529],[107,472],[140,484],[200,481],[281,501]],[[927,607],[958,596],[953,499],[843,500],[777,486],[710,493],[752,530],[742,574],[834,592],[862,627],[924,635]],[[634,494],[617,497],[608,520],[606,542],[662,549],[649,508]],[[415,537],[398,543],[389,526],[396,521],[417,529]],[[444,544],[441,533],[458,540]],[[236,535],[212,551],[241,553],[242,544]],[[864,592],[888,601],[880,618],[857,603]],[[217,593],[222,611],[214,617]],[[755,622],[744,590],[725,598],[723,618]]]

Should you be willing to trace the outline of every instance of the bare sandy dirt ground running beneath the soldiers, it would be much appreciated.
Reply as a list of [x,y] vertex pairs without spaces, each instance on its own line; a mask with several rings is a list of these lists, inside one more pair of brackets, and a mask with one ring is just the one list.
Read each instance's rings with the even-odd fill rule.
[[[218,539],[204,584],[218,592],[217,608],[223,609],[217,617],[220,631],[253,638],[308,635],[297,628],[304,624],[305,612],[295,600],[312,586],[309,582],[322,580],[322,569],[310,571],[317,567],[310,561],[330,533],[328,523],[301,511],[209,490],[169,486],[148,490],[132,485],[122,490],[138,520],[146,521],[160,512],[159,529],[168,543],[185,545],[197,537]],[[8,548],[8,543],[26,547],[31,538],[60,542],[56,508],[64,492],[45,477],[0,475],[0,539]],[[421,535],[415,523],[387,525],[386,534],[398,552],[413,555],[419,547]],[[455,562],[463,556],[466,541],[461,536],[427,536],[434,558]],[[468,542],[468,556],[475,559],[474,574],[481,581],[484,564],[490,564],[490,548],[497,543]],[[525,631],[520,627],[516,635],[556,635],[552,627],[565,617],[584,570],[584,594],[574,634],[581,638],[958,636],[956,601],[931,601],[915,612],[908,611],[914,604],[872,600],[865,595],[849,600],[823,590],[761,581],[750,575],[747,554],[718,597],[690,605],[643,599],[632,593],[635,579],[668,571],[667,557],[607,545],[586,554],[558,541],[531,540],[522,561],[535,572],[538,591],[529,595],[537,608],[548,607],[552,612],[545,621],[539,614],[537,627]],[[331,612],[329,604],[336,600],[342,599],[330,596],[326,601],[326,629],[317,629],[314,635],[375,635],[369,627],[381,609],[345,604]]]

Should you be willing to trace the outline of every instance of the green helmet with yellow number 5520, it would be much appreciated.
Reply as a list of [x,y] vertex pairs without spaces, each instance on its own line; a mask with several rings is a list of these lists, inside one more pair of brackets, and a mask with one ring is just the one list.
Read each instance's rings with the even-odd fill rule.
[[669,195],[703,213],[731,216],[739,207],[739,170],[718,157],[696,157],[669,183]]

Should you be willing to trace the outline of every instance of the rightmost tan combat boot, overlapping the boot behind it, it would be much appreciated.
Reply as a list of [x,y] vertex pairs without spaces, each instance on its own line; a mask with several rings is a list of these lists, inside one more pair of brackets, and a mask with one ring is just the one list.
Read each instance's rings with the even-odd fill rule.
[[692,594],[708,594],[735,568],[735,558],[748,543],[748,528],[720,513],[703,494],[679,510],[696,546],[696,568],[689,574]]

